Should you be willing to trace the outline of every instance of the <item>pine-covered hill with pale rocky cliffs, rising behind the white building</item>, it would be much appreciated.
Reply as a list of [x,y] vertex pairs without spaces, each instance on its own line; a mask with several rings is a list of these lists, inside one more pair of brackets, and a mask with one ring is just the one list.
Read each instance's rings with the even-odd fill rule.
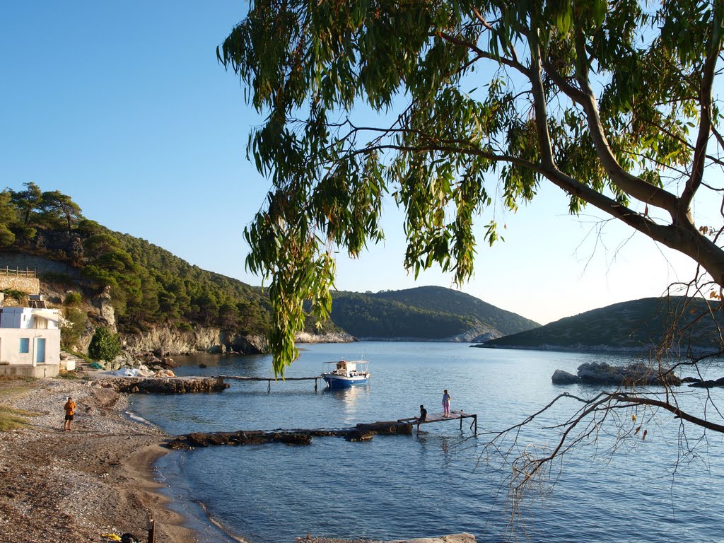
[[[215,342],[222,350],[258,352],[269,331],[269,300],[261,287],[85,219],[57,190],[26,183],[25,190],[0,193],[0,251],[4,266],[31,262],[40,274],[49,302],[67,319],[64,348],[83,350],[95,327],[109,327],[130,344],[143,335],[158,337],[162,329],[165,337],[207,338],[186,345]],[[329,323],[324,332],[335,329]]]

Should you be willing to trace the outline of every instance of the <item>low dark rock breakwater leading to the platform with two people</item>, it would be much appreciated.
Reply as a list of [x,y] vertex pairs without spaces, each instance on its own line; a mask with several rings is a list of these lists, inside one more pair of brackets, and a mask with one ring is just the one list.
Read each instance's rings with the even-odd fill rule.
[[215,445],[261,445],[262,443],[285,443],[287,445],[309,445],[314,437],[344,437],[348,441],[369,441],[375,434],[411,435],[413,425],[397,421],[358,424],[341,429],[295,429],[295,430],[239,430],[238,432],[194,432],[183,434],[167,443],[169,449],[195,449]]

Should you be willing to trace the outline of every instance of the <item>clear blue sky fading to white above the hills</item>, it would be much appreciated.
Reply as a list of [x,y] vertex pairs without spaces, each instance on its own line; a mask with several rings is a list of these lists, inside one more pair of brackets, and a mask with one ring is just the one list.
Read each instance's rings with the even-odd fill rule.
[[[243,228],[270,182],[246,159],[263,117],[245,103],[216,46],[241,1],[6,0],[0,3],[0,190],[34,182],[83,215],[203,269],[245,271]],[[356,292],[454,287],[450,274],[403,267],[403,214],[384,207],[386,240],[340,255],[336,287]],[[487,210],[504,243],[481,243],[459,290],[541,324],[688,281],[694,263],[600,212],[572,217],[544,184],[518,213]],[[705,224],[705,223],[704,223]]]

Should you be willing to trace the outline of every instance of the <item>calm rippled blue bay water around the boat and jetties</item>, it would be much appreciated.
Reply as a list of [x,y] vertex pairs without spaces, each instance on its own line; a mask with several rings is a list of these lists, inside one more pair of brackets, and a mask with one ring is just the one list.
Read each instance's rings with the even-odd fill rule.
[[[584,362],[628,363],[625,356],[468,348],[467,344],[362,342],[308,345],[287,376],[312,376],[323,362],[365,358],[366,387],[332,391],[313,382],[232,383],[220,394],[133,397],[133,409],[166,432],[239,429],[337,428],[358,422],[416,416],[423,403],[442,412],[442,390],[452,409],[478,413],[479,435],[458,421],[428,424],[426,432],[376,436],[371,442],[315,438],[308,447],[259,445],[172,452],[157,466],[177,507],[203,503],[212,518],[252,543],[292,542],[315,536],[401,539],[468,531],[479,542],[510,534],[500,458],[483,447],[491,432],[517,424],[561,392],[589,397],[592,387],[556,387],[555,369],[575,373]],[[271,376],[269,356],[200,355],[179,358],[182,375]],[[208,365],[198,368],[199,363]],[[724,375],[711,363],[704,377]],[[323,385],[323,383],[321,384]],[[697,405],[707,392],[682,387],[681,401]],[[575,405],[569,402],[523,429],[519,443],[554,445],[555,430]],[[630,415],[622,413],[625,424]],[[545,497],[523,504],[533,542],[724,541],[724,439],[687,429],[698,456],[679,457],[677,421],[639,412],[647,438],[624,443],[615,454],[614,424],[599,440],[569,455]],[[640,434],[639,434],[640,435]],[[678,470],[674,468],[678,462]],[[532,498],[532,495],[531,495]],[[223,542],[207,531],[206,541]],[[524,539],[522,534],[518,537]]]

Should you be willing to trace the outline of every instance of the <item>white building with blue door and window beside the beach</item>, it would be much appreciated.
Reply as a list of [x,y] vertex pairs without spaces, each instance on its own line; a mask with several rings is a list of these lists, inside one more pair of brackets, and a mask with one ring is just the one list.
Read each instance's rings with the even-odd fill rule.
[[0,374],[58,375],[60,311],[29,307],[2,307],[0,311]]

